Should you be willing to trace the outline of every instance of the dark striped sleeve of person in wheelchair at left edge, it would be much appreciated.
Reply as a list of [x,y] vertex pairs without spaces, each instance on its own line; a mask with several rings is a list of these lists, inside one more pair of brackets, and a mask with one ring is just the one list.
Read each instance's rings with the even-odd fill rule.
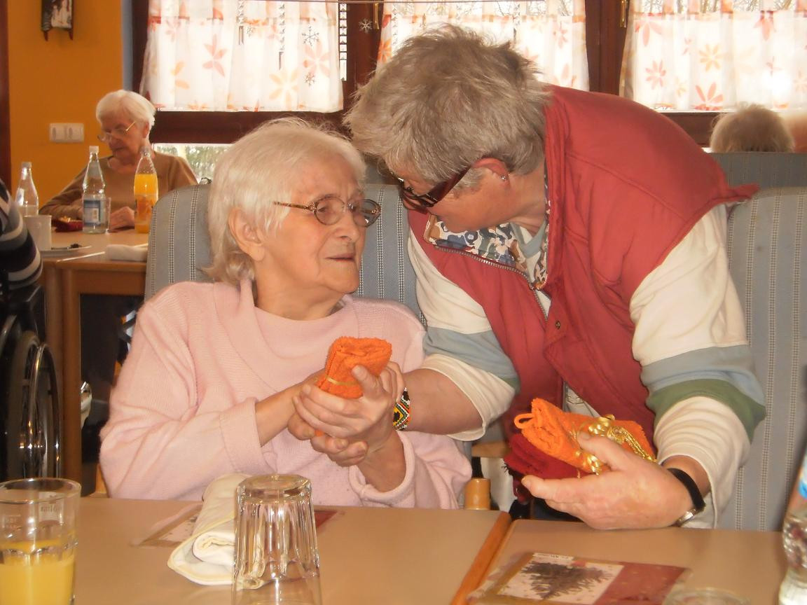
[[0,273],[0,294],[6,294],[6,282],[10,290],[16,290],[36,283],[42,273],[40,251],[3,181],[0,181]]

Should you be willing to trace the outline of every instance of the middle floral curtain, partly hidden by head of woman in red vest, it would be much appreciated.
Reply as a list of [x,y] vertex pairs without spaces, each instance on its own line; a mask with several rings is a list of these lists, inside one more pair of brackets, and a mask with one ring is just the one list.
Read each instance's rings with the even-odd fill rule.
[[536,63],[545,81],[588,89],[584,0],[384,2],[378,64],[389,60],[408,37],[441,23],[479,31],[498,42],[512,41]]

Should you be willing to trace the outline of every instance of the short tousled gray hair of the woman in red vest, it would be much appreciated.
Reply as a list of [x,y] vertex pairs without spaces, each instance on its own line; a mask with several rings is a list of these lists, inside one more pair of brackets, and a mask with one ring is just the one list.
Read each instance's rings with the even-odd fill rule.
[[[529,173],[543,161],[548,98],[511,44],[444,26],[407,40],[357,91],[345,125],[362,152],[427,182],[482,157]],[[473,172],[462,185],[473,185]]]

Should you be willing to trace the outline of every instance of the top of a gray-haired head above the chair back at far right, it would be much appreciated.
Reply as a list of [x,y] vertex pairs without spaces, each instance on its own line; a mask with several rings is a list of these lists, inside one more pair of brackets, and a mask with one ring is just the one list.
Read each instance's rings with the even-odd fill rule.
[[793,138],[781,115],[752,103],[717,116],[709,147],[717,153],[792,152]]

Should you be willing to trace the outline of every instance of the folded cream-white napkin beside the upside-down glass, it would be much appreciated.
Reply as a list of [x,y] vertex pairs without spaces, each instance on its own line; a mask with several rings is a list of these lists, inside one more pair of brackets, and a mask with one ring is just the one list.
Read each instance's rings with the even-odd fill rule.
[[205,490],[194,532],[168,558],[168,566],[191,582],[215,586],[232,582],[236,551],[236,487],[247,474],[215,479]]

